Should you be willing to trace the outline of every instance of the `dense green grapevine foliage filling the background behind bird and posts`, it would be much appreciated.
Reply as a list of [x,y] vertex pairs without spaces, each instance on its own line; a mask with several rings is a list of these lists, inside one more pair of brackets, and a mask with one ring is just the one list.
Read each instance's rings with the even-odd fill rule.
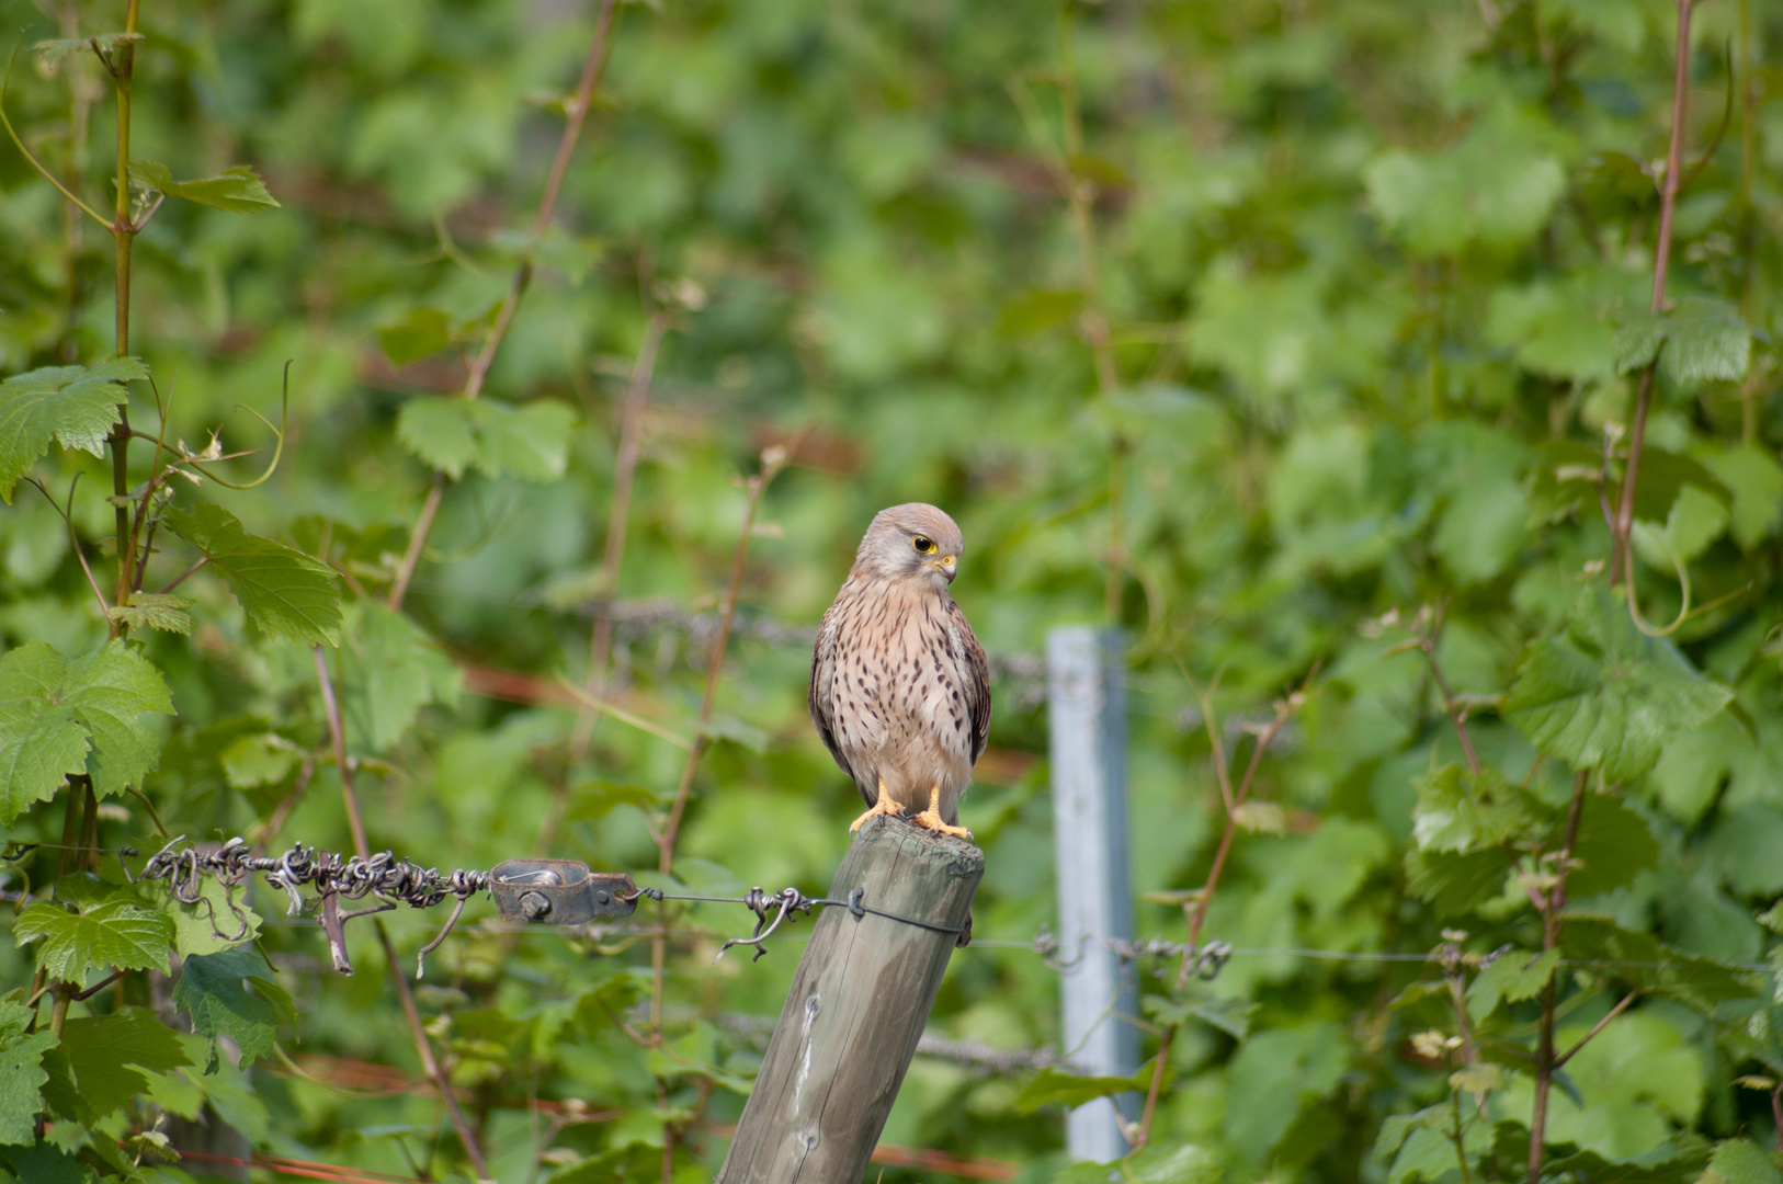
[[[0,0],[0,18],[29,46],[116,32],[123,4]],[[858,801],[804,720],[801,629],[877,508],[934,501],[1000,660],[963,810],[988,863],[979,938],[1052,915],[1045,704],[1022,660],[1048,626],[1132,638],[1145,938],[1187,936],[1184,893],[1227,829],[1211,738],[1236,779],[1303,687],[1202,931],[1277,952],[1193,990],[1139,963],[1145,1056],[1166,1031],[1171,1056],[1129,1179],[1523,1179],[1544,1015],[1551,1054],[1635,991],[1555,1079],[1546,1170],[1778,1180],[1783,12],[1694,12],[1692,173],[1649,316],[1664,0],[622,5],[471,405],[592,29],[546,0],[148,0],[141,41],[102,45],[136,46],[136,209],[164,196],[134,251],[146,371],[102,367],[111,237],[0,152],[0,476],[68,497],[86,474],[71,526],[23,483],[0,510],[11,838],[82,845],[64,824],[91,822],[91,786],[105,851],[159,845],[150,804],[193,838],[349,849],[321,644],[373,849],[487,868],[546,840],[642,883],[817,892]],[[7,111],[111,209],[111,78],[62,50],[18,55]],[[620,405],[656,330],[606,588]],[[134,510],[157,473],[139,439],[112,485],[119,399],[164,430],[175,476],[244,483],[287,360],[276,471],[246,492],[162,476],[141,587],[209,560],[109,622],[75,544],[116,599],[105,490]],[[1644,621],[1683,617],[1667,637],[1606,592],[1599,499],[1617,505],[1642,371],[1631,585]],[[260,453],[207,462],[212,432]],[[658,733],[695,733],[740,478],[768,446],[792,464],[761,499],[661,877],[647,818],[685,752]],[[608,685],[654,731],[603,717],[583,744],[592,717],[556,688],[588,681],[590,606],[613,597]],[[419,1068],[369,922],[339,977],[276,893],[255,897],[267,961],[216,938],[214,902],[86,859],[9,863],[14,1175],[201,1173],[153,1150],[164,1114],[209,1107],[264,1154],[467,1179],[437,1095],[325,1072]],[[651,1040],[635,934],[517,936],[485,902],[431,958],[421,1015],[496,1179],[717,1168],[760,1063],[720,1018],[776,1015],[802,947],[713,966],[742,911],[672,917],[661,1047],[631,1040]],[[403,959],[439,920],[385,918]],[[1056,1007],[1036,954],[977,947],[933,1029],[1034,1048]],[[918,1059],[884,1138],[1052,1180],[1064,1097],[1082,1086]]]

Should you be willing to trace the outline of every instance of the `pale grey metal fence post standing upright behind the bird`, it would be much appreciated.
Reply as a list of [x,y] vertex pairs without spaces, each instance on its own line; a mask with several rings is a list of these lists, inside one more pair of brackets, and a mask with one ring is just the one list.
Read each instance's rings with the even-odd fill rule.
[[[1052,731],[1052,827],[1059,881],[1059,975],[1064,1052],[1084,1072],[1127,1077],[1139,1068],[1139,1038],[1120,1016],[1136,991],[1109,938],[1132,940],[1127,879],[1127,695],[1120,629],[1066,626],[1047,635]],[[1120,1098],[1120,1109],[1136,1104]],[[1136,1118],[1138,1114],[1129,1114]],[[1073,1159],[1127,1154],[1114,1104],[1098,1098],[1066,1118]]]

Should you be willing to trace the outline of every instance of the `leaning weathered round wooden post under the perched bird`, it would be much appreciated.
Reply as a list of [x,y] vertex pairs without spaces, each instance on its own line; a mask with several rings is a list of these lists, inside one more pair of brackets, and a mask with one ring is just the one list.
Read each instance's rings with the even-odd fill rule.
[[[959,929],[984,852],[895,818],[861,827],[831,900]],[[957,936],[847,908],[817,920],[715,1184],[858,1184]]]

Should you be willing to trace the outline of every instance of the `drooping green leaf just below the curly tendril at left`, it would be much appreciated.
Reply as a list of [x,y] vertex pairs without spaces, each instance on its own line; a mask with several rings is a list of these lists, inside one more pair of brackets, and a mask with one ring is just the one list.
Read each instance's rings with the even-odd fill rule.
[[201,505],[168,512],[168,530],[203,551],[259,629],[305,644],[341,644],[341,588],[326,563],[250,535],[234,514]]

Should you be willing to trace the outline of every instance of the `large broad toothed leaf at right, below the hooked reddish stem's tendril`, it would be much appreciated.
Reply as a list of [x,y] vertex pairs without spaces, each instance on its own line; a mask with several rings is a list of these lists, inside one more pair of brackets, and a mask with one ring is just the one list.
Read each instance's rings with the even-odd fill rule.
[[1669,736],[1696,728],[1731,697],[1674,645],[1635,629],[1628,610],[1594,588],[1562,635],[1524,651],[1505,719],[1548,756],[1630,781],[1658,761]]

